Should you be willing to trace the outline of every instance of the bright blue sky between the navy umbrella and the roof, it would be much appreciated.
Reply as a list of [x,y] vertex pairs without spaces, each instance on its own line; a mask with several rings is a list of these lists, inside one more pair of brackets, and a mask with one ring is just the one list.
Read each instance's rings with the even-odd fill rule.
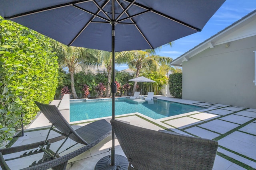
[[[157,55],[176,59],[253,10],[256,10],[256,0],[226,0],[201,32],[174,41],[172,47],[162,47]],[[126,68],[128,68],[126,65],[116,66],[119,71]]]

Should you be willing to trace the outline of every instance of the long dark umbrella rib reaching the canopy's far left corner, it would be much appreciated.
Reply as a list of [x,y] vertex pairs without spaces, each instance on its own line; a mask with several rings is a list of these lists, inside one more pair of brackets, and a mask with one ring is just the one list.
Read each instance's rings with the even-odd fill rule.
[[29,16],[29,15],[37,14],[37,13],[40,13],[40,12],[45,12],[45,11],[49,11],[49,10],[54,10],[54,9],[63,8],[63,7],[66,7],[66,6],[72,6],[74,4],[79,4],[79,3],[82,3],[82,2],[90,2],[90,1],[92,1],[92,0],[78,0],[78,1],[69,2],[69,3],[65,3],[65,4],[60,4],[60,5],[50,6],[50,7],[47,7],[47,8],[42,8],[42,9],[38,9],[38,10],[24,12],[24,13],[21,13],[21,14],[16,14],[16,15],[10,16],[10,17],[4,17],[4,19],[9,20],[9,19],[20,18],[20,17],[23,17],[23,16]]

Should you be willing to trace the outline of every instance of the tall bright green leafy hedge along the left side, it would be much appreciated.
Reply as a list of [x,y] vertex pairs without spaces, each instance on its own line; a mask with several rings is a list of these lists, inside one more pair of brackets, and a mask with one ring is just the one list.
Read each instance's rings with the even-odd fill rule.
[[57,78],[50,39],[0,18],[0,143],[20,128],[21,113],[25,125],[35,117],[39,109],[34,101],[54,99]]

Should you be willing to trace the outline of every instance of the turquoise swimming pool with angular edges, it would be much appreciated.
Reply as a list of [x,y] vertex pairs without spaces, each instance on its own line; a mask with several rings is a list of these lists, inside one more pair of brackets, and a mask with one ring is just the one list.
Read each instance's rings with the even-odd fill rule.
[[[206,109],[206,107],[180,104],[154,99],[151,102],[134,102],[129,98],[115,100],[115,115],[139,112],[153,119],[160,119],[191,111]],[[143,102],[143,103],[142,103]],[[112,100],[70,101],[70,121],[95,119],[112,115]]]

